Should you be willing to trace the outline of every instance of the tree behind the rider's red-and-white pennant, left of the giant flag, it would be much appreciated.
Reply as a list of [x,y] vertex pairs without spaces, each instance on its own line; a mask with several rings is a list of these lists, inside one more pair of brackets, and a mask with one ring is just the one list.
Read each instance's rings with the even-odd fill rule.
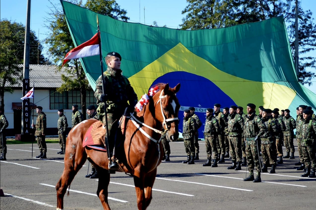
[[[78,6],[83,6],[81,0],[71,0],[69,2]],[[109,15],[114,19],[121,19],[123,21],[129,20],[129,18],[126,16],[127,12],[124,9],[120,9],[115,0],[88,0],[84,7],[102,15]],[[50,52],[51,56],[54,58],[53,62],[58,65],[58,71],[61,71],[62,68],[60,58],[63,58],[67,52],[69,52],[75,46],[71,39],[70,31],[62,8],[51,2],[50,10],[50,13],[48,13],[49,17],[46,18],[46,27],[50,30],[50,33],[45,42],[49,45],[48,52]],[[81,94],[82,112],[85,113],[86,91],[92,89],[83,71],[80,60],[69,60],[65,66],[69,67],[66,71],[67,75],[71,76],[66,76],[64,74],[62,75],[62,81],[64,83],[60,88],[57,89],[57,91],[62,93],[64,91],[79,89]],[[83,117],[85,119],[86,115],[84,114]]]

